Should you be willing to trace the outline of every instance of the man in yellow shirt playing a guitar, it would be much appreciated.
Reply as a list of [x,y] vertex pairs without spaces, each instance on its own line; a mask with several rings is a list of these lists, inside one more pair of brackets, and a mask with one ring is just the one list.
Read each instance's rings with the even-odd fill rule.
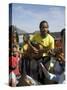
[[[49,25],[47,21],[40,22],[39,28],[40,32],[33,35],[31,42],[37,42],[40,45],[40,51],[43,51],[41,62],[45,65],[50,60],[48,51],[54,49],[54,38],[48,33]],[[34,50],[34,52],[38,53],[39,50]],[[38,61],[38,65],[39,63]],[[39,72],[39,66],[37,66],[37,71]]]

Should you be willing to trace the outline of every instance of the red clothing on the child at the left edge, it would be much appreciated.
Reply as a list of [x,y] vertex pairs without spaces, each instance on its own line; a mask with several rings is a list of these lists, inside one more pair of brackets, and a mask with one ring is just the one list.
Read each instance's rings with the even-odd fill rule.
[[18,63],[19,63],[18,55],[16,55],[16,57],[15,56],[9,57],[9,67],[14,68],[9,69],[9,73],[13,71],[15,75],[20,75]]

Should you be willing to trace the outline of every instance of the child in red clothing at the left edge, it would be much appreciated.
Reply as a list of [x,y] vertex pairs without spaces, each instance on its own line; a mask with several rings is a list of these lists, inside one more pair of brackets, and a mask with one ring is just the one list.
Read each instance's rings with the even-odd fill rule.
[[9,57],[9,83],[11,86],[16,86],[17,76],[20,76],[18,64],[19,57],[17,46],[12,45],[11,56]]

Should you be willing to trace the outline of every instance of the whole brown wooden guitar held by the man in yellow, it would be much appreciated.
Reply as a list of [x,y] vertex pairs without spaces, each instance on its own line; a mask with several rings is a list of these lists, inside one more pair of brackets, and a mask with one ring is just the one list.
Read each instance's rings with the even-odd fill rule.
[[[61,48],[55,48],[55,49],[48,49],[47,47],[43,46],[41,43],[38,42],[28,42],[28,49],[25,52],[25,56],[28,56],[29,58],[33,59],[40,59],[43,56],[43,53],[47,53],[48,56],[53,56],[56,58],[60,58],[60,60],[64,61],[64,55],[62,56],[62,49]],[[58,59],[59,60],[59,59]],[[60,61],[59,60],[59,61]]]

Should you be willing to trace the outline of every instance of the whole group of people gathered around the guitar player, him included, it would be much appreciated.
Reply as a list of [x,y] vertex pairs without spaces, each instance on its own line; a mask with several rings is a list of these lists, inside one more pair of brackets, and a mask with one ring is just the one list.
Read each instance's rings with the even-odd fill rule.
[[[24,34],[20,49],[19,36],[12,26],[9,27],[10,86],[33,85],[36,81],[43,85],[64,83],[65,29],[61,31],[62,48],[56,50],[55,39],[49,33],[48,22],[41,21],[39,29],[40,32],[32,36]],[[55,62],[54,65],[53,62]],[[33,68],[35,69],[33,70]],[[19,84],[20,81],[21,84]],[[32,82],[34,83],[32,84]]]

